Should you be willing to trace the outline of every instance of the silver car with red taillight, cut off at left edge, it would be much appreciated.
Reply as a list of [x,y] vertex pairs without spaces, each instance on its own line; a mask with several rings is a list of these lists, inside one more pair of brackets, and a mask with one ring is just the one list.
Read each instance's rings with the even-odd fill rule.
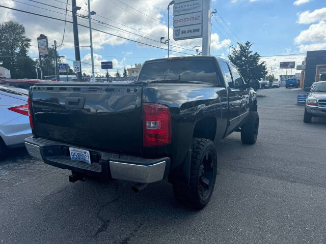
[[0,86],[0,159],[7,148],[24,146],[24,139],[32,135],[28,90]]

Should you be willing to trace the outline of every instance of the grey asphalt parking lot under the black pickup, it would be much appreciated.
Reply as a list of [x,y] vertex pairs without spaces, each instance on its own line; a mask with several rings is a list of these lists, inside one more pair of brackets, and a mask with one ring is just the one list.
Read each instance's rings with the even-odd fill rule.
[[326,243],[326,119],[303,123],[296,89],[260,90],[255,145],[233,133],[201,211],[158,182],[68,181],[24,149],[0,163],[1,243]]

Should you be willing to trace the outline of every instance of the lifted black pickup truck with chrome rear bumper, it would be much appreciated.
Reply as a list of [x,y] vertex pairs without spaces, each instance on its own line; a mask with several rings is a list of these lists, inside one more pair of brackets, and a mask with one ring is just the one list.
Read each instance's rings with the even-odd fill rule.
[[254,89],[232,64],[210,56],[144,63],[133,83],[38,83],[30,88],[29,153],[85,177],[168,179],[175,198],[203,208],[218,167],[216,142],[257,140]]

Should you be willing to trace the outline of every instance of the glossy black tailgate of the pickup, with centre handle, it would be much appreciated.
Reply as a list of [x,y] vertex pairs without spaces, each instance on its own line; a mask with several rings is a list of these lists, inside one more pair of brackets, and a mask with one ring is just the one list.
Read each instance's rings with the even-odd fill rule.
[[36,136],[107,151],[140,152],[141,87],[40,84],[30,96]]

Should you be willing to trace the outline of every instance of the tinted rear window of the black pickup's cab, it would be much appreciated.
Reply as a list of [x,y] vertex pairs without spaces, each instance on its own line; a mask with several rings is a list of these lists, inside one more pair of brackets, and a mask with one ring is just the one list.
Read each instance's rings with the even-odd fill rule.
[[138,81],[180,80],[216,84],[212,60],[176,60],[145,64]]

